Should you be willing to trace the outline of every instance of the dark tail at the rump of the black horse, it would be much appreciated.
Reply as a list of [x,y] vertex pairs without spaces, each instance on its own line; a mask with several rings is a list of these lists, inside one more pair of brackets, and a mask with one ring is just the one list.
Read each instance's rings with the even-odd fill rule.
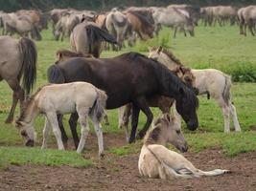
[[47,78],[50,83],[65,83],[64,75],[57,64],[53,64],[48,68]]

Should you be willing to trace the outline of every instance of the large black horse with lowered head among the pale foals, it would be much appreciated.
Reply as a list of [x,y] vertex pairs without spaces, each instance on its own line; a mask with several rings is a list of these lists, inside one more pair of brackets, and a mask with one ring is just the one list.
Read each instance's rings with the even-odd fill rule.
[[[135,141],[140,110],[147,116],[147,122],[138,136],[145,136],[153,117],[147,98],[155,95],[175,98],[177,112],[187,123],[188,129],[198,128],[198,97],[192,89],[168,68],[140,53],[124,53],[114,58],[101,59],[75,57],[57,62],[48,69],[48,80],[50,83],[89,82],[105,91],[106,109],[132,103],[129,142]],[[79,142],[77,120],[76,114],[71,115],[69,120],[76,145]],[[60,130],[62,138],[66,138],[63,127],[60,127]]]

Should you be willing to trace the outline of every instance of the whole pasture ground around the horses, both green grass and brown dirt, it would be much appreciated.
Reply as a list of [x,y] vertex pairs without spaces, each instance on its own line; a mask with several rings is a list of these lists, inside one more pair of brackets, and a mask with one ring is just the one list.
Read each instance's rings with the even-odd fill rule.
[[[148,46],[163,45],[172,50],[185,65],[196,69],[216,68],[233,75],[232,97],[237,108],[242,133],[223,133],[221,109],[206,96],[199,96],[196,132],[183,125],[189,152],[185,154],[200,169],[226,168],[231,174],[200,180],[146,180],[140,178],[137,159],[141,141],[127,145],[123,130],[117,128],[117,111],[107,111],[110,125],[104,125],[105,159],[97,157],[97,138],[91,128],[83,154],[73,149],[69,135],[68,151],[58,151],[54,137],[51,149],[40,150],[44,118],[36,120],[35,148],[25,148],[23,139],[12,124],[4,121],[12,103],[12,92],[6,82],[0,83],[0,189],[53,190],[253,190],[256,187],[256,38],[239,35],[238,27],[196,28],[195,37],[184,37],[164,29],[158,37],[137,42],[122,52],[105,51],[102,57],[125,52],[147,53]],[[51,30],[42,32],[36,42],[38,51],[36,88],[47,83],[46,71],[56,60],[58,49],[68,49],[69,39],[54,40]],[[254,82],[244,82],[254,81]],[[36,89],[35,88],[35,89]],[[160,112],[152,109],[154,117]],[[16,116],[18,113],[16,112]],[[141,114],[139,129],[145,123]],[[231,124],[233,127],[233,124]],[[232,129],[233,130],[233,129]],[[49,176],[51,180],[49,180]]]

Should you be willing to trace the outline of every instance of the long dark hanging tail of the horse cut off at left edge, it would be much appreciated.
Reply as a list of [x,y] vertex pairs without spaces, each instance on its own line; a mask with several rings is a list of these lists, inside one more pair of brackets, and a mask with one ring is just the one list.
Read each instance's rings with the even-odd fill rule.
[[25,90],[25,93],[29,95],[33,90],[36,80],[36,47],[35,43],[31,39],[26,37],[22,37],[19,40],[18,45],[22,56],[22,87]]

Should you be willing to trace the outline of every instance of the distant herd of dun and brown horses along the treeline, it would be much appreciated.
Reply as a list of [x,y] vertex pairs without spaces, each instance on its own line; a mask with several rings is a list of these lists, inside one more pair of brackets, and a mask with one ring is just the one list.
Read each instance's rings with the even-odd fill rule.
[[162,26],[174,28],[176,32],[187,32],[195,35],[195,27],[201,19],[204,26],[215,26],[219,23],[224,26],[230,22],[231,25],[240,26],[240,33],[246,35],[249,29],[252,35],[256,32],[256,6],[238,8],[234,6],[212,6],[198,7],[193,5],[170,5],[168,7],[129,7],[126,9],[114,8],[111,11],[78,11],[75,9],[54,9],[48,12],[42,11],[0,11],[0,28],[2,34],[18,33],[40,40],[40,32],[48,29],[48,22],[53,23],[53,35],[55,39],[63,40],[70,36],[74,28],[86,17],[97,26],[112,34],[120,50],[124,41],[133,46],[137,38],[147,40],[153,35],[158,35]]

